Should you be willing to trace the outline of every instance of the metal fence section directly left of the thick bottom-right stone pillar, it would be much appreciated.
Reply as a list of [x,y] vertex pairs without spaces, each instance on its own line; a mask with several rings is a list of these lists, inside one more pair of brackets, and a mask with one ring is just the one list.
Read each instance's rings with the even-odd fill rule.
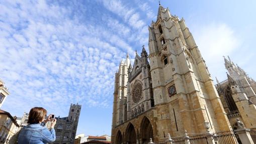
[[240,144],[241,141],[237,135],[236,132],[234,131],[220,131],[214,133],[214,141],[218,141],[219,144],[225,144],[225,143],[230,143],[230,144]]

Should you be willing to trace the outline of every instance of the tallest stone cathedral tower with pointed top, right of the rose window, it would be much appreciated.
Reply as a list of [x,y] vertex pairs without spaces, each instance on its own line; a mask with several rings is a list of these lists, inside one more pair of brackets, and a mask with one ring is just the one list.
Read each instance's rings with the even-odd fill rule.
[[[208,68],[185,24],[159,6],[149,30],[149,60],[159,131],[173,135],[229,130],[230,124]],[[166,108],[167,106],[167,108]],[[170,120],[170,127],[166,123]],[[161,126],[160,126],[161,125]]]

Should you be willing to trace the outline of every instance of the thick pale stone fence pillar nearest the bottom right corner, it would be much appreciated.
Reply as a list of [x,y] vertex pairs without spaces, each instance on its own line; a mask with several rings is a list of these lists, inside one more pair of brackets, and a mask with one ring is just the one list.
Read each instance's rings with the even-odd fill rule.
[[234,130],[237,132],[240,140],[242,143],[246,143],[246,144],[254,144],[253,140],[251,139],[251,136],[250,136],[250,129],[248,128],[239,128],[239,129],[236,129]]

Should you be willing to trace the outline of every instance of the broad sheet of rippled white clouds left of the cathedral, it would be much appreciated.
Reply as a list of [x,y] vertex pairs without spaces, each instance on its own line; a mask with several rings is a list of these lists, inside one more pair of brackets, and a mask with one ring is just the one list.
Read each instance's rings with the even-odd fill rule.
[[[21,115],[43,106],[66,115],[71,102],[111,106],[121,58],[147,44],[148,18],[139,12],[148,9],[99,2],[90,9],[78,1],[0,2],[0,78],[11,92],[3,108]],[[99,7],[109,13],[92,15]]]

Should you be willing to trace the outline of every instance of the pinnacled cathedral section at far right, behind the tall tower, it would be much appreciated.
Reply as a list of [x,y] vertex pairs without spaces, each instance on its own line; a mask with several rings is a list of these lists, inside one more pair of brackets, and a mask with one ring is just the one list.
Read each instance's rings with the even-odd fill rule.
[[228,71],[227,80],[219,82],[216,78],[216,89],[221,98],[223,108],[233,129],[236,118],[243,121],[246,128],[256,127],[256,82],[243,69],[224,57]]

